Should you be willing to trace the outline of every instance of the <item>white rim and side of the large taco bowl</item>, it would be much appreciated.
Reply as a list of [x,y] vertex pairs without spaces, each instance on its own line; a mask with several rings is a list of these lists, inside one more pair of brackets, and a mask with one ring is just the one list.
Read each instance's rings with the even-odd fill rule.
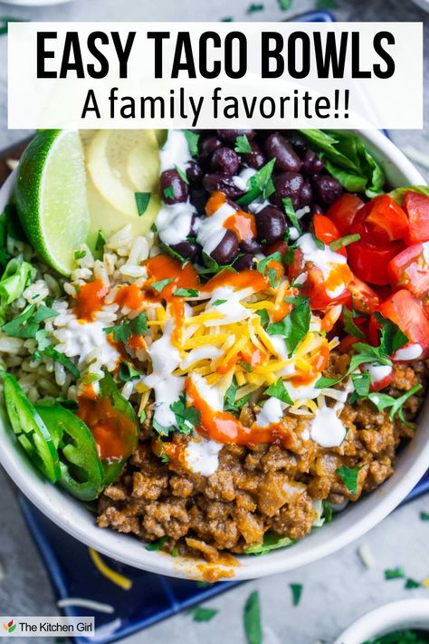
[[[424,178],[396,146],[378,131],[359,132],[367,141],[386,171],[393,187],[424,184]],[[13,190],[14,177],[0,190],[0,212]],[[148,551],[135,537],[97,527],[93,515],[60,487],[44,481],[28,460],[20,454],[5,422],[0,418],[0,462],[24,495],[55,524],[100,553],[136,568],[174,577],[201,578],[209,574],[202,562]],[[284,572],[314,562],[334,553],[366,533],[398,505],[424,475],[429,466],[429,401],[420,418],[415,439],[398,457],[394,476],[375,492],[356,504],[349,504],[334,520],[289,549],[277,550],[263,557],[243,556],[239,565],[226,566],[224,572],[234,579],[253,579]],[[218,572],[218,567],[215,572]]]

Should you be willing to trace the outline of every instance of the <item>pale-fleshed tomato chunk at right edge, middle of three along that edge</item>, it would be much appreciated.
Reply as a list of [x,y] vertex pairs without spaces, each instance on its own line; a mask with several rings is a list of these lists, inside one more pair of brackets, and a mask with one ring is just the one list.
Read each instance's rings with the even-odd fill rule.
[[[429,255],[429,244],[427,244]],[[429,293],[429,264],[424,254],[424,245],[415,244],[405,248],[388,265],[390,282],[394,288],[404,286],[416,298]]]

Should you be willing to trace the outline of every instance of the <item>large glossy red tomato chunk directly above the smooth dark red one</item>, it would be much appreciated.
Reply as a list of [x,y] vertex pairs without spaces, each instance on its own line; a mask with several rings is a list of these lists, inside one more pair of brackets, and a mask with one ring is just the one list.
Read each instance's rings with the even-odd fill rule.
[[367,244],[386,246],[408,235],[408,217],[396,201],[388,195],[379,195],[368,201],[351,225]]

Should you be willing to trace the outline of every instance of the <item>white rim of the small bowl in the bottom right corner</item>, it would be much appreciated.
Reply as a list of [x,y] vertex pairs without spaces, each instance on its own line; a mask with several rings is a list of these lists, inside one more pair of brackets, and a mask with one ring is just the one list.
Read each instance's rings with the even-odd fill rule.
[[334,644],[362,644],[396,630],[429,632],[429,600],[403,600],[380,606],[348,627]]

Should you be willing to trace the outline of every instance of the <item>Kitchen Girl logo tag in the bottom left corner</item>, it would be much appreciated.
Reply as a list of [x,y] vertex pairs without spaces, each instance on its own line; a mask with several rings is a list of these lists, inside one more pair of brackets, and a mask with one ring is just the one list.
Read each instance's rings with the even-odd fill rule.
[[93,617],[63,617],[63,616],[44,616],[26,617],[23,615],[14,615],[13,617],[0,616],[0,623],[3,624],[3,630],[0,629],[0,637],[5,638],[41,638],[46,636],[66,636],[77,637],[84,636],[91,638],[94,636],[94,618]]

